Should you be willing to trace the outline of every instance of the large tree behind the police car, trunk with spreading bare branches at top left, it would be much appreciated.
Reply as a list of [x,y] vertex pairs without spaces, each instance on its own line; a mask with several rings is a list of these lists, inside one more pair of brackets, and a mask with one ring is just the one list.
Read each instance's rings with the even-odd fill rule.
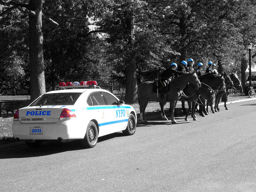
[[53,30],[56,29],[58,23],[54,22],[51,18],[42,15],[42,0],[30,0],[28,4],[15,3],[12,1],[3,2],[0,0],[0,4],[9,7],[0,14],[0,17],[14,9],[18,9],[20,12],[28,14],[30,94],[31,101],[33,101],[41,94],[45,93],[42,17],[55,25]]

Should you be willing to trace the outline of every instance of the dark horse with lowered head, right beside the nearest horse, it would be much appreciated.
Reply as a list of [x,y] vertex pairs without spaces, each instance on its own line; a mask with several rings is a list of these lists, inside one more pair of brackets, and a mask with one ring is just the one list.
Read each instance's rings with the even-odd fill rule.
[[190,94],[190,96],[187,97],[184,95],[185,96],[184,97],[182,95],[182,97],[179,99],[179,101],[188,102],[188,111],[186,113],[185,121],[188,121],[188,114],[191,108],[192,108],[191,117],[193,118],[194,121],[197,121],[196,115],[195,115],[195,111],[196,111],[195,105],[199,96],[201,95],[202,97],[204,97],[209,103],[209,105],[212,106],[213,99],[214,99],[214,91],[205,83],[201,83],[201,87],[197,88],[196,90],[193,85],[189,84],[186,93]]

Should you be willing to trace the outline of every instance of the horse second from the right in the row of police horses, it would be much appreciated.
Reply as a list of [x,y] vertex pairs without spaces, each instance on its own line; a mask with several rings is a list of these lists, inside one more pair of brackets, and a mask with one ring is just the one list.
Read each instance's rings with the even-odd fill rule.
[[[233,87],[233,81],[230,79],[229,75],[226,72],[223,73],[223,78],[224,78],[224,81],[225,81],[225,87],[223,87],[221,90],[218,90],[218,92],[216,94],[215,106],[214,106],[214,111],[215,112],[219,112],[220,111],[219,103],[220,103],[220,99],[221,99],[222,95],[224,95],[224,94],[227,95],[228,88],[229,87]],[[211,106],[211,110],[213,111],[212,106]]]

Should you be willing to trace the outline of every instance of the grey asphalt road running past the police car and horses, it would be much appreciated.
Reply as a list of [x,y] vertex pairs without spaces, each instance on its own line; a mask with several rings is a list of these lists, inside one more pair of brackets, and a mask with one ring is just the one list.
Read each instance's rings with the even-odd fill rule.
[[101,137],[93,149],[3,149],[0,191],[256,191],[256,101],[228,107],[176,125],[139,123],[135,135]]

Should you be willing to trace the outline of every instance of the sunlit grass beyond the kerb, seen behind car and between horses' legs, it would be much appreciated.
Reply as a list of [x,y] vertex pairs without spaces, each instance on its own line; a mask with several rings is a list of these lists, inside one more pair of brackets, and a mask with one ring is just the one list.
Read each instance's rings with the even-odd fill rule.
[[[248,96],[240,95],[240,96],[232,96],[229,95],[229,102],[230,101],[237,101],[237,100],[242,100],[242,99],[248,99]],[[10,101],[27,101],[27,96],[0,96],[0,102],[10,102]],[[220,102],[223,103],[223,102]],[[140,118],[140,106],[138,103],[132,104],[134,107],[136,113],[137,113],[137,118]],[[187,103],[185,103],[185,107],[188,108]],[[169,110],[169,103],[167,103],[164,107],[164,110],[168,113]],[[176,112],[181,113],[181,102],[178,101],[176,105]],[[149,102],[145,111],[145,116],[154,116],[154,115],[159,115],[161,113],[159,103],[157,102]],[[7,143],[13,143],[17,142],[13,138],[12,134],[12,122],[13,122],[13,116],[9,118],[0,118],[0,145],[7,144]]]

